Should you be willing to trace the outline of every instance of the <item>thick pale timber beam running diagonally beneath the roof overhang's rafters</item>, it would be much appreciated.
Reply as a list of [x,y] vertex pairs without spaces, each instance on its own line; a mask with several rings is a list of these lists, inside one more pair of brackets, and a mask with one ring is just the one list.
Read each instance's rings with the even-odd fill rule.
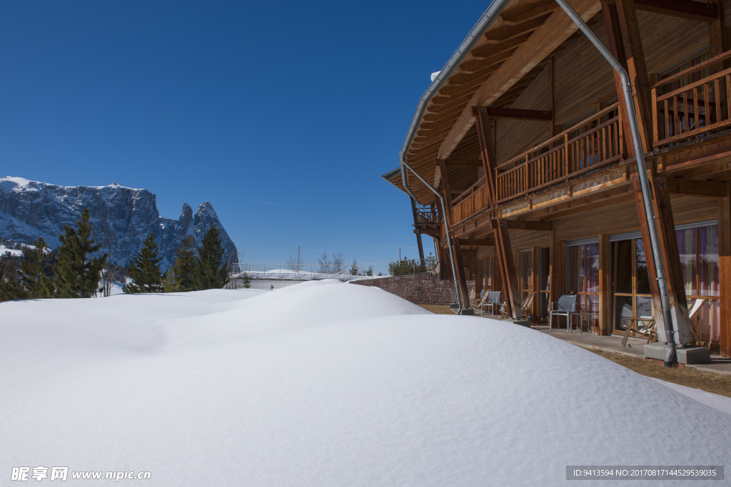
[[[589,20],[599,12],[601,4],[596,0],[577,0],[573,2],[572,7],[583,20]],[[487,82],[482,83],[480,88],[477,88],[470,104],[476,107],[486,107],[492,104],[512,85],[518,83],[531,69],[541,64],[550,53],[553,53],[576,31],[577,26],[564,12],[551,14],[542,26],[537,27],[537,31],[531,35],[528,41],[515,50],[510,59],[501,64],[499,69],[490,75]],[[463,110],[452,126],[450,134],[447,135],[441,147],[439,147],[438,157],[440,159],[449,157],[473,124],[474,116],[472,113],[469,110]]]

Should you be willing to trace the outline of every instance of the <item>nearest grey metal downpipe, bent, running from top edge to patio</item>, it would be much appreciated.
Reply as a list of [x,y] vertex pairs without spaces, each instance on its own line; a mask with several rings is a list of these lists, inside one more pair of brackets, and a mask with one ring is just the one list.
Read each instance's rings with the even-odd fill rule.
[[652,246],[652,255],[655,261],[655,274],[657,279],[657,287],[660,291],[660,304],[662,306],[662,320],[665,323],[665,340],[667,342],[667,354],[665,356],[665,367],[670,367],[675,361],[675,334],[673,332],[673,318],[670,313],[670,298],[667,296],[667,283],[665,282],[665,268],[662,262],[659,246],[659,236],[657,233],[657,225],[655,223],[655,211],[652,207],[650,183],[647,179],[647,169],[645,167],[645,156],[640,142],[640,128],[637,125],[637,113],[635,112],[635,104],[632,102],[632,85],[629,83],[629,76],[619,61],[614,58],[602,41],[591,31],[583,19],[575,12],[566,0],[556,0],[556,3],[564,9],[569,18],[574,21],[576,26],[580,28],[583,34],[589,39],[591,44],[599,50],[609,64],[612,65],[622,81],[622,90],[624,91],[624,104],[626,105],[627,115],[629,117],[629,129],[632,132],[632,144],[635,146],[635,156],[637,158],[637,172],[640,177],[640,186],[642,188],[642,196],[645,202],[645,218],[647,218],[648,227],[650,228],[650,243]]

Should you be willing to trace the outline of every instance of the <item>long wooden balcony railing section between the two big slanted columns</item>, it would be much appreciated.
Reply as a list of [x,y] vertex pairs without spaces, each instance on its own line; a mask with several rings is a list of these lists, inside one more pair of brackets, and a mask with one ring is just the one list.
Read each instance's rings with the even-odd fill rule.
[[497,201],[505,202],[569,177],[594,171],[624,155],[618,104],[583,120],[496,168]]

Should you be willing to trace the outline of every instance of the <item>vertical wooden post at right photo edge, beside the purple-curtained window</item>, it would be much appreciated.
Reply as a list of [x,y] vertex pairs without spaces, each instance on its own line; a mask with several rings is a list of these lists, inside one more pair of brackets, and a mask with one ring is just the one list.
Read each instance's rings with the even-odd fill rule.
[[731,183],[719,198],[719,296],[721,356],[731,357]]

